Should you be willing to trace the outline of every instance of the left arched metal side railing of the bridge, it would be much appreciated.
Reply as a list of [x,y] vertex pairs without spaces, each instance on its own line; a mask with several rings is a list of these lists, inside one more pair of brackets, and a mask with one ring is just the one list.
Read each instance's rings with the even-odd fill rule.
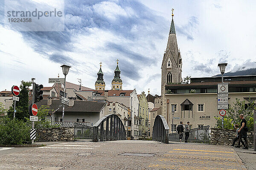
[[125,139],[125,126],[116,114],[108,114],[93,125],[93,142]]

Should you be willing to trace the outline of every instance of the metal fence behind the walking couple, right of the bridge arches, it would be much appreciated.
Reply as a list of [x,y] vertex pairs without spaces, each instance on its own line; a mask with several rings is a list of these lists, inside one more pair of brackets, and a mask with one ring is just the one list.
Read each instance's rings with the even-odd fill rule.
[[[183,133],[183,139],[185,135]],[[178,133],[169,133],[169,141],[179,141]],[[197,127],[189,130],[188,142],[210,144],[210,126]]]

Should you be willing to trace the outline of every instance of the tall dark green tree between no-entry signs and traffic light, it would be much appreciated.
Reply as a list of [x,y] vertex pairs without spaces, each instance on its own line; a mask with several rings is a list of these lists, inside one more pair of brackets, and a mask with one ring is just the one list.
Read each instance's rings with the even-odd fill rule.
[[[19,102],[16,102],[16,113],[15,118],[20,120],[26,120],[29,118],[29,87],[32,82],[21,81],[20,84],[20,94],[19,94]],[[9,118],[13,118],[14,105],[12,105],[7,114]]]

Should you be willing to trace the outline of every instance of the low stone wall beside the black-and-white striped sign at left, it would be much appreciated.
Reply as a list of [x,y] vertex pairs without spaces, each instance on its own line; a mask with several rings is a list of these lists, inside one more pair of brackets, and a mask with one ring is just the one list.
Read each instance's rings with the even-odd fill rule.
[[55,127],[36,130],[37,142],[73,141],[74,127]]

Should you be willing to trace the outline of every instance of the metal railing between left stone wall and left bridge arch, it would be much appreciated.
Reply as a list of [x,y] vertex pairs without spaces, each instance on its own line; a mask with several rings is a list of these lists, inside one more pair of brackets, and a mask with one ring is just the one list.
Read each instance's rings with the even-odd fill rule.
[[76,139],[93,139],[93,127],[80,123],[74,124],[74,140]]

